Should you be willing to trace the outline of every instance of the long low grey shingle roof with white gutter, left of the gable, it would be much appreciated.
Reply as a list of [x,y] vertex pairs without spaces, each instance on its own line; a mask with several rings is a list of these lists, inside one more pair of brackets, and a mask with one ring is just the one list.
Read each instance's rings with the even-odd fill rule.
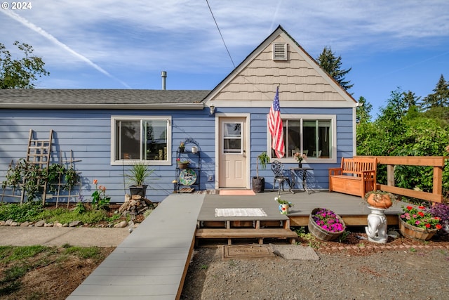
[[0,108],[203,109],[210,91],[132,89],[0,89]]

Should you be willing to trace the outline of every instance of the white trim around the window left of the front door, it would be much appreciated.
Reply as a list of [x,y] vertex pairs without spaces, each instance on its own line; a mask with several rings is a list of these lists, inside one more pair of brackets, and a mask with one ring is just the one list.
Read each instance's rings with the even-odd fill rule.
[[172,138],[171,138],[171,134],[172,134],[172,120],[171,120],[171,116],[111,116],[111,165],[114,166],[121,166],[121,165],[132,165],[135,164],[135,162],[140,162],[140,160],[138,159],[121,159],[121,160],[115,160],[114,157],[116,157],[116,149],[115,149],[115,136],[116,136],[116,121],[121,120],[121,121],[141,121],[141,120],[166,120],[167,121],[167,160],[148,160],[145,161],[148,163],[149,166],[170,166],[172,163],[172,154],[171,154],[171,149],[172,149]]

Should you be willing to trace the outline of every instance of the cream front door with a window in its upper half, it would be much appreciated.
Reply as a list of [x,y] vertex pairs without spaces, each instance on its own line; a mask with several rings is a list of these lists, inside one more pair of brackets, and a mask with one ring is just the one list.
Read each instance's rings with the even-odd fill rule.
[[246,118],[220,117],[220,188],[246,188]]

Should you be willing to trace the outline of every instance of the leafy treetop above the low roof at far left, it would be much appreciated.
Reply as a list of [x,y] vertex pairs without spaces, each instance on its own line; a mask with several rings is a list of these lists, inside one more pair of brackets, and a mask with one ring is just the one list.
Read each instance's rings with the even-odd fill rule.
[[13,59],[4,44],[0,43],[0,89],[34,89],[37,76],[48,76],[41,58],[32,56],[33,47],[14,42],[24,57]]

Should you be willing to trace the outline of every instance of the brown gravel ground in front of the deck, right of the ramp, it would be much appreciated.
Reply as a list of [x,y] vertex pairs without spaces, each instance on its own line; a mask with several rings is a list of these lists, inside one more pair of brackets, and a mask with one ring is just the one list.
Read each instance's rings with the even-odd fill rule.
[[319,260],[223,259],[222,247],[201,247],[181,299],[448,299],[447,243],[394,244],[319,247]]

